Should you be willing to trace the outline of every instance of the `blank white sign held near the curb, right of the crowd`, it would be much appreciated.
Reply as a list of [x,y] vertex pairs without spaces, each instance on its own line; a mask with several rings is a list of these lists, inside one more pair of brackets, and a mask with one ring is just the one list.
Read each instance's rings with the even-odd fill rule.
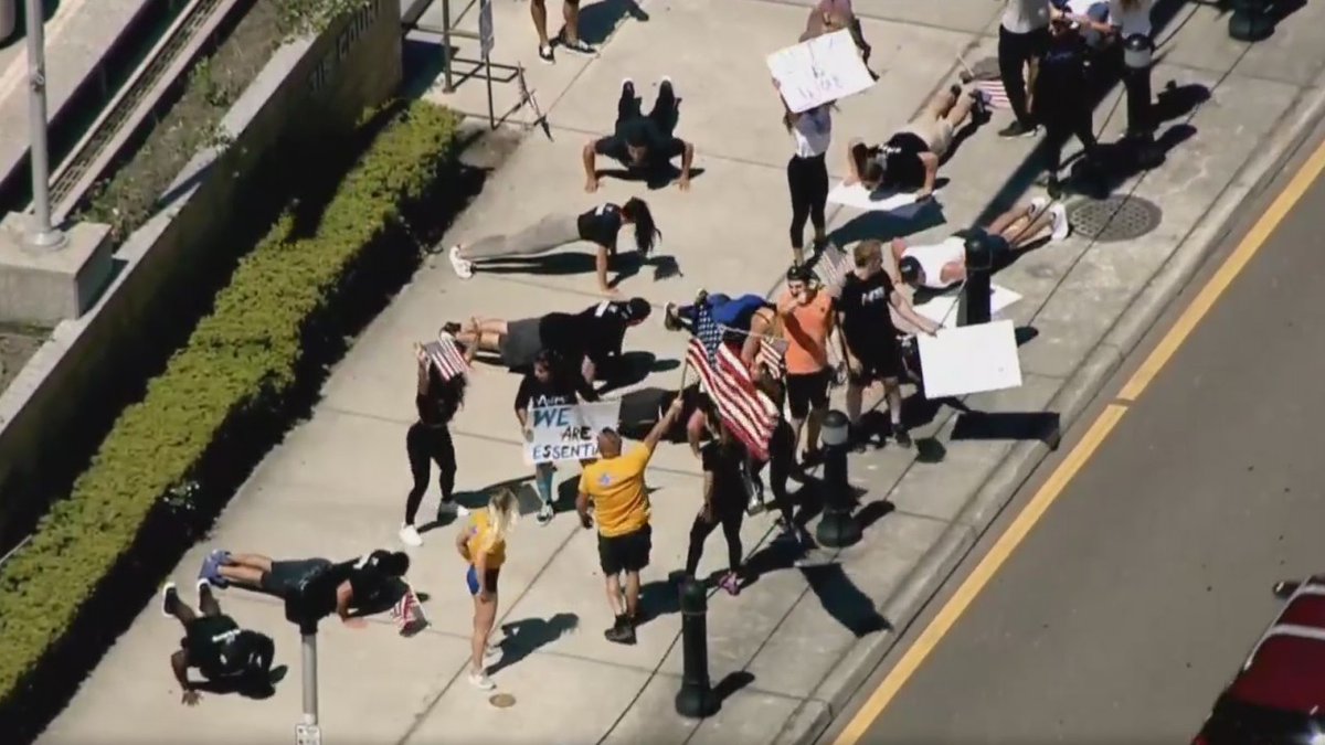
[[938,335],[918,338],[925,398],[930,400],[1022,384],[1022,359],[1011,321],[943,329]]

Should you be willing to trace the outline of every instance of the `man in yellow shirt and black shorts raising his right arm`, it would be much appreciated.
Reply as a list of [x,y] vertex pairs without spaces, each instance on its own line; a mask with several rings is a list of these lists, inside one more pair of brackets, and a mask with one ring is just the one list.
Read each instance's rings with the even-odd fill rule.
[[[575,509],[587,530],[594,526],[594,518],[588,512],[590,504],[594,505],[594,517],[598,518],[598,559],[607,581],[607,603],[616,616],[616,623],[603,632],[608,642],[635,643],[635,624],[640,608],[640,570],[649,565],[649,551],[653,547],[644,469],[653,457],[653,448],[681,414],[681,396],[677,396],[644,441],[624,455],[621,435],[615,430],[603,430],[598,435],[599,459],[586,465],[580,473]],[[620,577],[623,573],[624,602]]]

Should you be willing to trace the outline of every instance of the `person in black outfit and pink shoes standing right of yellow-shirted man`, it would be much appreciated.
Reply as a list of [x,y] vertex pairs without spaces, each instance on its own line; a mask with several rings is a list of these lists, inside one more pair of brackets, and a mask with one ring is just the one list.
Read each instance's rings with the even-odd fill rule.
[[722,526],[722,537],[727,542],[727,571],[718,586],[727,593],[741,593],[741,524],[745,521],[746,492],[746,448],[731,435],[717,411],[709,407],[706,412],[709,431],[714,433],[701,451],[704,461],[704,506],[690,526],[690,545],[685,555],[685,574],[694,577],[704,555],[704,542],[714,529]]

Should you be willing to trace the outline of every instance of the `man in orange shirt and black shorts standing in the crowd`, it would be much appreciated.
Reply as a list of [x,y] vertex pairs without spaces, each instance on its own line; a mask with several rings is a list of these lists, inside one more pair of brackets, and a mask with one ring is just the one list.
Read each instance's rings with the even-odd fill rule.
[[778,317],[787,341],[787,408],[796,443],[806,420],[810,422],[802,463],[819,456],[819,428],[828,414],[828,383],[832,382],[828,366],[828,337],[835,321],[832,296],[820,292],[811,278],[803,264],[787,269],[787,292],[778,300]]

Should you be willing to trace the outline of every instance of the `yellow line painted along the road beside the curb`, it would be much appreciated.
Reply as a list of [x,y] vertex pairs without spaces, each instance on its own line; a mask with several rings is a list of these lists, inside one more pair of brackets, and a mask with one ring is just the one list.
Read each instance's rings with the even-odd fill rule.
[[[1215,274],[1200,289],[1191,304],[1183,310],[1178,321],[1169,329],[1165,337],[1155,346],[1154,351],[1133,374],[1132,379],[1118,392],[1118,399],[1136,400],[1137,396],[1159,374],[1163,366],[1173,358],[1182,342],[1187,339],[1196,323],[1206,317],[1215,301],[1228,289],[1234,278],[1242,273],[1252,256],[1265,244],[1289,211],[1301,200],[1312,183],[1325,171],[1325,142],[1322,142],[1306,162],[1298,168],[1284,191],[1275,198],[1264,215],[1252,225],[1242,243],[1224,260]],[[833,745],[855,745],[864,737],[865,732],[874,724],[874,720],[888,708],[888,704],[897,696],[908,680],[920,669],[930,652],[938,647],[943,636],[951,631],[962,614],[971,606],[980,590],[988,585],[990,579],[1002,569],[1003,563],[1012,555],[1012,551],[1031,533],[1031,529],[1044,517],[1049,505],[1059,498],[1063,489],[1072,481],[1079,471],[1090,460],[1104,439],[1113,431],[1113,427],[1126,414],[1128,407],[1121,403],[1110,403],[1100,416],[1090,424],[1081,441],[1063,459],[1063,463],[1053,469],[1049,479],[1031,497],[1020,514],[1012,521],[1007,532],[999,537],[988,554],[971,571],[970,577],[962,582],[951,599],[938,611],[934,620],[921,631],[916,642],[906,650],[901,660],[888,672],[878,688],[869,696],[869,700],[856,712],[856,716],[847,724],[847,728],[837,736]]]

